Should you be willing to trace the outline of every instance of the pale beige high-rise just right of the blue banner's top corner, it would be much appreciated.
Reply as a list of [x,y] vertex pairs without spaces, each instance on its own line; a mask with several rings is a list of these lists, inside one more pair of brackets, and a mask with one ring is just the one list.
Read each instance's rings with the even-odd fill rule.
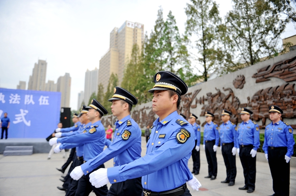
[[71,77],[69,73],[60,76],[57,83],[57,91],[61,92],[61,107],[70,107]]

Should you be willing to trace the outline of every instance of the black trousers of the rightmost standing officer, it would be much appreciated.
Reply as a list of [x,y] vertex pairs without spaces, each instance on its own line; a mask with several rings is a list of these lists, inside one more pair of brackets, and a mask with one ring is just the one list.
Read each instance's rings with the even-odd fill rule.
[[268,147],[268,164],[276,196],[289,196],[290,162],[286,163],[286,153],[287,147]]

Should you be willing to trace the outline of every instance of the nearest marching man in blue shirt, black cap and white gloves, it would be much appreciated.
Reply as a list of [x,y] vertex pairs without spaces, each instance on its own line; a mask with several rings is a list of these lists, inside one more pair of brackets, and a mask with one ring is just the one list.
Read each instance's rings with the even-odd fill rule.
[[177,109],[187,86],[171,72],[154,76],[152,111],[159,118],[153,122],[147,154],[129,164],[99,169],[90,175],[96,187],[142,177],[145,196],[190,196],[186,182],[194,190],[201,184],[187,167],[194,146],[194,131]]

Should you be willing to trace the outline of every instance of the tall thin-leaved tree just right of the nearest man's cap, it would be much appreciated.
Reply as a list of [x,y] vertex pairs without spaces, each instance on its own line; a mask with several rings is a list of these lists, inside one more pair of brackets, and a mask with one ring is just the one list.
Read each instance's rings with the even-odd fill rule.
[[[191,0],[185,8],[185,40],[194,40],[197,55],[194,60],[202,65],[199,69],[202,81],[207,81],[209,74],[219,69],[218,26],[221,24],[218,5],[212,0]],[[190,43],[190,42],[189,42]]]

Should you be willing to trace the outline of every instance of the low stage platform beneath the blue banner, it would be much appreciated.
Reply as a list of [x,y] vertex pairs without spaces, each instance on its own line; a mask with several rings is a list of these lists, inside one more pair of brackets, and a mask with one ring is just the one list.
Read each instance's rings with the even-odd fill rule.
[[0,154],[3,154],[5,146],[33,146],[33,153],[48,153],[51,149],[45,138],[8,138],[0,140]]

